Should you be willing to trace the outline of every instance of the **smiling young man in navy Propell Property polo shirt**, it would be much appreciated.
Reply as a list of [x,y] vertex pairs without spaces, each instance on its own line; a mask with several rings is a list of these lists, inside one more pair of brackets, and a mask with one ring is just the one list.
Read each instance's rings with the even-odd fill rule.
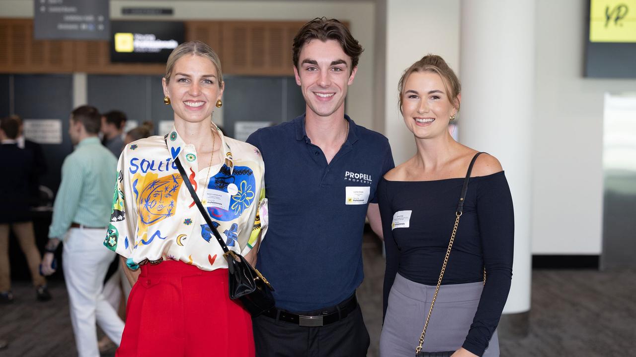
[[270,228],[257,266],[276,299],[252,320],[259,357],[366,356],[364,217],[381,234],[376,188],[394,165],[387,138],[345,115],[362,51],[338,20],[304,25],[293,61],[306,112],[247,139],[265,161]]

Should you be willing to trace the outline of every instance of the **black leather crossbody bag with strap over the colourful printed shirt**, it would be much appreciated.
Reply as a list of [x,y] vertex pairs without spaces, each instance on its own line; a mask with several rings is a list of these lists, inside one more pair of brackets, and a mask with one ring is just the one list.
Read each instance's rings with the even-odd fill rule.
[[263,274],[252,267],[242,255],[228,249],[228,246],[225,245],[225,241],[221,238],[221,234],[219,234],[219,231],[214,227],[214,224],[212,224],[212,219],[210,219],[210,216],[207,214],[207,210],[205,210],[205,207],[198,198],[197,191],[195,191],[190,180],[188,180],[186,170],[184,170],[183,165],[181,165],[179,158],[176,158],[174,163],[177,165],[181,179],[183,179],[183,183],[188,187],[190,196],[194,199],[207,226],[210,227],[214,238],[216,238],[221,249],[223,249],[223,257],[225,257],[228,262],[230,299],[240,300],[244,309],[252,316],[258,316],[264,311],[272,309],[275,305],[272,295],[274,290],[272,285],[270,285]]

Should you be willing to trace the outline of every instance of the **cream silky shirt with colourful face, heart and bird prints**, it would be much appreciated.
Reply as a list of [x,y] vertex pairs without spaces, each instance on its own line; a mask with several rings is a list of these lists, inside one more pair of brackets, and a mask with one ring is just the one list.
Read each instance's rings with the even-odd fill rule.
[[[212,224],[234,252],[247,254],[267,230],[265,168],[256,147],[221,137],[225,162],[209,170],[194,145],[176,129],[167,137],[137,140],[121,152],[111,223],[104,245],[127,258],[128,267],[181,260],[199,269],[226,268],[223,250],[183,184],[179,158]],[[166,146],[167,144],[167,146]],[[199,168],[202,168],[200,170]]]

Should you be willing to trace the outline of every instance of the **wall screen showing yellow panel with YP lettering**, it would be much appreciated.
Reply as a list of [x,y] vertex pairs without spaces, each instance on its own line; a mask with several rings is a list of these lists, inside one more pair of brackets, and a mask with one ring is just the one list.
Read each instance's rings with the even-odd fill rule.
[[585,76],[636,78],[636,0],[590,0]]

